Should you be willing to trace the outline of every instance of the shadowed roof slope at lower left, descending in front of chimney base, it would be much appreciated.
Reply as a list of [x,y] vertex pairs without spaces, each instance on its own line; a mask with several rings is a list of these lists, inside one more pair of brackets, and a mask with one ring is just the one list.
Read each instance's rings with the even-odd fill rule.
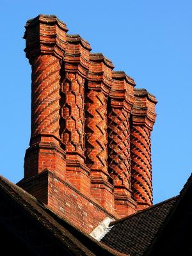
[[[0,176],[0,199],[0,224],[10,225],[8,218],[4,218],[6,216],[4,209],[9,211],[12,208],[13,212],[8,214],[13,214],[14,216],[14,211],[17,211],[17,215],[23,218],[22,221],[28,220],[28,222],[31,221],[34,227],[35,225],[38,226],[38,230],[42,230],[46,236],[52,237],[53,244],[61,245],[60,252],[62,252],[63,248],[63,255],[66,255],[66,252],[67,255],[122,255],[122,253],[111,250],[111,248],[92,239],[92,237],[86,236],[63,218],[54,214],[46,205],[38,202],[35,197],[2,176]],[[12,220],[11,223],[13,224]],[[16,230],[18,225],[19,223],[16,223]],[[19,236],[21,236],[20,234]],[[33,241],[29,241],[30,237],[26,237],[26,234],[24,235],[25,237],[21,237],[23,241],[28,239],[25,243],[33,243]],[[36,236],[32,237],[33,240],[36,239]],[[38,255],[44,254],[38,253]]]

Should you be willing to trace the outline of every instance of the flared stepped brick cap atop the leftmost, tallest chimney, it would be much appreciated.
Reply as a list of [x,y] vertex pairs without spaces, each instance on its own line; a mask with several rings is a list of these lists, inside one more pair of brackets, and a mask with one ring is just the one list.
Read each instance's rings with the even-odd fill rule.
[[66,33],[64,22],[55,15],[38,15],[26,23],[24,39],[26,39],[26,57],[31,59],[39,54],[52,54],[62,59],[66,47]]

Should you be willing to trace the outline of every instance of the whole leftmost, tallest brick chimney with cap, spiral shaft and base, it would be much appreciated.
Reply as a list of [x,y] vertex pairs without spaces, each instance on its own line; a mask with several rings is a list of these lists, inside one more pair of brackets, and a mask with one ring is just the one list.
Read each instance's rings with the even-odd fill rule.
[[32,66],[31,140],[24,179],[49,169],[65,179],[65,152],[60,147],[60,61],[67,27],[55,16],[39,15],[26,24],[26,57]]

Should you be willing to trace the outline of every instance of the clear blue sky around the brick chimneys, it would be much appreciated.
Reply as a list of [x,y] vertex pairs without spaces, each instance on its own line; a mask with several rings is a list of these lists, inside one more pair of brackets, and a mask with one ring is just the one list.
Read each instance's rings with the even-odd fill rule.
[[1,174],[23,177],[30,136],[31,67],[24,25],[39,13],[55,14],[68,33],[81,35],[156,95],[152,132],[154,203],[177,195],[192,169],[192,1],[1,0]]

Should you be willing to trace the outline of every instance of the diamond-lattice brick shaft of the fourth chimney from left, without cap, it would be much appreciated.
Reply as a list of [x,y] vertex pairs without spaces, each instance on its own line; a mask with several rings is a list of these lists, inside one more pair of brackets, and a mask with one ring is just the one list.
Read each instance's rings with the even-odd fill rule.
[[108,115],[108,164],[113,184],[131,187],[129,113],[112,108]]

